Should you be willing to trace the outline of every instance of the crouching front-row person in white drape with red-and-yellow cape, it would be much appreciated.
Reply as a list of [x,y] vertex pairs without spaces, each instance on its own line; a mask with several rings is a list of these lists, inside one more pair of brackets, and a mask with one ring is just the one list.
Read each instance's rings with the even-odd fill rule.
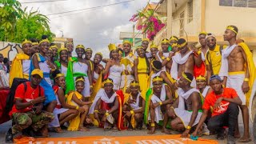
[[94,114],[104,130],[124,130],[122,126],[122,102],[121,90],[114,92],[114,83],[110,78],[102,82],[103,88],[98,90],[93,104],[90,106],[89,114]]

